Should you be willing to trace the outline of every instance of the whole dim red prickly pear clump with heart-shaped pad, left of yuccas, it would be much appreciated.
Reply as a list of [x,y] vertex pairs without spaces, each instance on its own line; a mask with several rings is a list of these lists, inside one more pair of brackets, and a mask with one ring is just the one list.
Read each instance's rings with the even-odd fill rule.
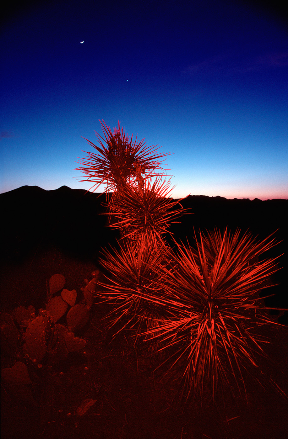
[[[41,378],[46,380],[49,377],[50,386],[50,379],[55,376],[55,367],[56,370],[62,367],[70,352],[75,353],[85,347],[86,340],[75,337],[74,331],[86,325],[92,301],[86,295],[88,306],[75,305],[77,291],[63,289],[64,284],[65,277],[61,274],[50,278],[46,309],[39,309],[39,317],[36,317],[33,306],[28,309],[18,306],[11,313],[0,313],[1,353],[4,353],[1,378],[5,392],[12,399],[15,398],[17,405],[20,402],[25,407],[36,406],[33,397],[36,383],[41,383]],[[61,293],[55,295],[58,291]],[[56,323],[63,316],[66,316],[68,327]],[[11,364],[14,366],[7,367]],[[31,380],[33,386],[30,389]]]

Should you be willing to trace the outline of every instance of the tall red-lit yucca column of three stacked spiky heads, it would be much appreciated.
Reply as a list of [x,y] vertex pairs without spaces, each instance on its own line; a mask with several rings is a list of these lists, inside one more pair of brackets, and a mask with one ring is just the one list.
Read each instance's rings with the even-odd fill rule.
[[119,252],[103,252],[102,265],[110,273],[103,298],[114,298],[117,304],[109,313],[110,324],[126,318],[122,329],[130,325],[140,331],[144,320],[153,326],[160,317],[151,302],[145,302],[145,291],[155,291],[154,265],[164,260],[165,234],[171,220],[179,216],[175,206],[182,206],[168,197],[171,179],[162,180],[161,158],[168,154],[158,154],[159,148],[147,147],[144,140],[133,143],[120,122],[112,132],[103,121],[102,130],[104,138],[97,134],[100,147],[88,140],[97,153],[88,152],[88,160],[81,162],[85,167],[78,169],[87,176],[83,181],[94,182],[95,189],[106,184],[106,192],[113,191],[106,214],[109,225],[120,229],[122,241]]

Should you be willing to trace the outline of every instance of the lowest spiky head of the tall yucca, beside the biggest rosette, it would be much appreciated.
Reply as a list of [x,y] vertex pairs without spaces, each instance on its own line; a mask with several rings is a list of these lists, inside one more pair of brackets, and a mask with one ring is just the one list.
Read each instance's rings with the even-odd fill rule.
[[[146,301],[146,295],[163,294],[160,291],[159,264],[165,264],[167,250],[164,245],[155,248],[148,242],[142,241],[135,247],[131,241],[122,242],[120,250],[103,251],[100,260],[109,275],[107,282],[101,283],[104,291],[96,292],[98,297],[113,302],[113,309],[106,316],[110,327],[117,322],[121,325],[118,332],[125,327],[136,330],[136,337],[144,328],[157,325],[157,321],[168,313],[155,301]],[[144,326],[143,326],[144,324]],[[116,333],[116,334],[117,334]],[[115,334],[115,335],[116,335]]]

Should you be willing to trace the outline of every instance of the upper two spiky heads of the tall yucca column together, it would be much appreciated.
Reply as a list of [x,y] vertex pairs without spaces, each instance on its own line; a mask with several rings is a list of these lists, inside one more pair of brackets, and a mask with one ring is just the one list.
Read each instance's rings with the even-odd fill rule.
[[[113,131],[104,121],[100,123],[104,137],[96,133],[99,146],[85,139],[96,153],[87,152],[86,159],[81,159],[84,166],[77,169],[86,178],[80,181],[95,183],[91,187],[94,191],[101,184],[105,184],[106,194],[112,191],[107,214],[110,225],[120,227],[122,237],[129,235],[129,239],[137,241],[146,235],[147,239],[155,240],[167,229],[168,219],[175,216],[171,209],[177,204],[165,200],[173,188],[168,190],[170,180],[161,180],[161,159],[169,154],[158,154],[159,148],[147,147],[144,139],[137,142],[136,137],[133,142],[133,136],[130,139],[125,129],[120,128],[120,121]],[[111,224],[115,217],[116,224],[113,220]]]

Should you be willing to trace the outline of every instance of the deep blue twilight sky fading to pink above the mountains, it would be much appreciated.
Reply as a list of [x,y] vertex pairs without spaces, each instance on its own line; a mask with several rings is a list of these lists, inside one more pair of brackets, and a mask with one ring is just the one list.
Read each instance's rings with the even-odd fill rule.
[[173,153],[175,198],[288,198],[288,28],[274,12],[241,0],[11,10],[1,37],[0,192],[90,189],[72,169],[91,150],[81,136],[95,143],[104,119]]

